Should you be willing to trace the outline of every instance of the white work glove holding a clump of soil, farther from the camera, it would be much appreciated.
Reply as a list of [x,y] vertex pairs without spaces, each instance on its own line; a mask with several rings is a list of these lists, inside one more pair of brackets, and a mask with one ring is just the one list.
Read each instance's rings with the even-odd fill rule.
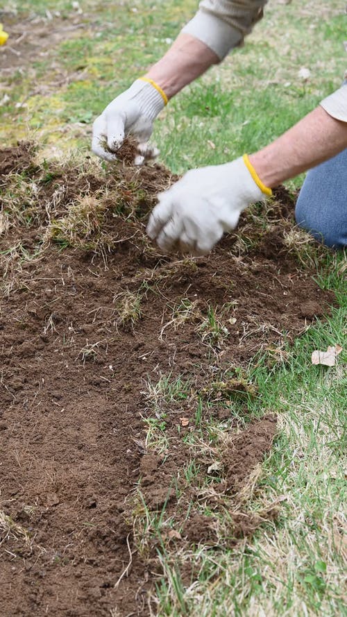
[[[92,151],[96,155],[106,160],[117,160],[117,150],[126,135],[132,135],[139,143],[141,155],[135,159],[135,164],[142,164],[144,158],[154,158],[158,154],[158,150],[149,146],[148,141],[153,131],[153,120],[167,103],[167,98],[152,83],[137,79],[96,118],[92,137]],[[103,146],[105,142],[108,149]]]

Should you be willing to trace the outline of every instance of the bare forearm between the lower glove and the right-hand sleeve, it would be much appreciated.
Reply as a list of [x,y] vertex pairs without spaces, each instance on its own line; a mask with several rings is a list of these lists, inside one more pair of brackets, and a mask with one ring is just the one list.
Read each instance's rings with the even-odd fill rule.
[[267,187],[298,176],[347,148],[347,122],[319,106],[249,160]]

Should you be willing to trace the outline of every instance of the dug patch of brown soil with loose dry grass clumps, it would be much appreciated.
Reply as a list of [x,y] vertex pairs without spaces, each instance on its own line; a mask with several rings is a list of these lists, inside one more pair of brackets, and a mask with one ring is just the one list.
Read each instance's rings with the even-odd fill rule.
[[[145,234],[175,180],[160,165],[43,163],[31,144],[1,165],[1,614],[145,616],[158,546],[237,550],[276,516],[232,516],[276,434],[244,369],[334,296],[287,242],[285,189],[208,257],[168,257]],[[210,419],[227,438],[196,448]]]

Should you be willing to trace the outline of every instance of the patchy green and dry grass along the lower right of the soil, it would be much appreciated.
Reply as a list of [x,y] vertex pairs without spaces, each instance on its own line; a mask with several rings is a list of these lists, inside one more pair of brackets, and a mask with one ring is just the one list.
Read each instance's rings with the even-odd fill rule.
[[[266,523],[236,550],[210,555],[201,547],[176,557],[162,552],[165,576],[158,585],[158,614],[344,614],[346,350],[330,369],[310,361],[312,350],[341,343],[346,334],[343,264],[342,256],[330,263],[328,285],[341,306],[328,321],[317,321],[287,346],[282,366],[269,370],[266,354],[249,367],[257,389],[257,396],[247,400],[250,416],[271,410],[280,427],[247,506],[259,512],[280,500],[278,520]],[[215,421],[205,422],[205,431],[208,425],[213,433]],[[198,572],[192,588],[180,577],[186,561]]]

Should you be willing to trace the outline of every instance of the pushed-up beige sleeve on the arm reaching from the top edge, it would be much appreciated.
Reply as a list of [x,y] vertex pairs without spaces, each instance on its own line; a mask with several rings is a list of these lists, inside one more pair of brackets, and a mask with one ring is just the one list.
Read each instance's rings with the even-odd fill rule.
[[198,12],[183,32],[201,40],[223,60],[242,44],[253,24],[262,18],[267,0],[201,0]]

